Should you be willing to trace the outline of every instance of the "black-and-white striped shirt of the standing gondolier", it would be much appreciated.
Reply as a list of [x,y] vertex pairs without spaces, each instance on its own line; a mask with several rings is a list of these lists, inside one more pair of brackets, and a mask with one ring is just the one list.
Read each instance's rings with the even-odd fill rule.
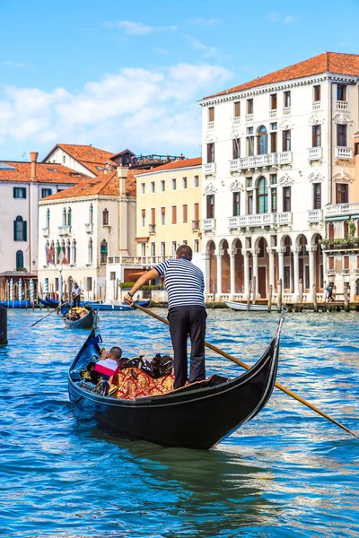
[[202,271],[192,262],[180,257],[156,265],[155,270],[165,277],[169,309],[187,305],[205,306],[205,279]]

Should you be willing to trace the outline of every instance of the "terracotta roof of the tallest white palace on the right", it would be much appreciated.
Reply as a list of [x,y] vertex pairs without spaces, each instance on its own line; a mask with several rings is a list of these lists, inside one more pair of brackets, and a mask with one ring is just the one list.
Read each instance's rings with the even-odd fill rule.
[[279,69],[274,73],[261,76],[254,81],[245,82],[240,86],[234,86],[230,90],[220,91],[214,95],[209,95],[204,99],[233,93],[234,91],[250,90],[258,86],[274,84],[276,82],[292,81],[293,79],[312,76],[314,74],[334,73],[347,74],[352,76],[359,75],[359,55],[342,54],[338,52],[324,52],[319,56],[314,56],[309,60],[299,62],[299,64],[290,65],[284,69]]

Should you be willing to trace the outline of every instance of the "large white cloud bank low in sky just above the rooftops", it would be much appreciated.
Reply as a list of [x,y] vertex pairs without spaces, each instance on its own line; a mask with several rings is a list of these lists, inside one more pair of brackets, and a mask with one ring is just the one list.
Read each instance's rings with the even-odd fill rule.
[[179,64],[124,68],[77,93],[0,86],[0,143],[22,141],[22,148],[43,152],[67,142],[113,152],[193,153],[201,142],[196,100],[222,90],[230,76],[219,65]]

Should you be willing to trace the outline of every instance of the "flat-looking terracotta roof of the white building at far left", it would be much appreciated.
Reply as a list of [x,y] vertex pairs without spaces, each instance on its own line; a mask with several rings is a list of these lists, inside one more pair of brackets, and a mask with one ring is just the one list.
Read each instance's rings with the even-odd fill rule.
[[[2,161],[4,164],[11,166],[14,170],[1,169],[0,181],[20,181],[30,182],[31,180],[31,162]],[[75,172],[62,164],[53,163],[36,163],[36,183],[66,183],[76,184],[84,178],[89,179],[84,174]]]

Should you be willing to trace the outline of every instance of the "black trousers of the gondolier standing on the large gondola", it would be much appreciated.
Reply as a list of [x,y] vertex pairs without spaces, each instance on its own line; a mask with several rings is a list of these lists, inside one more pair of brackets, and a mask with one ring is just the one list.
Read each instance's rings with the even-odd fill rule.
[[206,308],[199,305],[170,308],[168,320],[173,346],[174,388],[184,386],[188,372],[187,340],[191,343],[189,383],[206,378]]

